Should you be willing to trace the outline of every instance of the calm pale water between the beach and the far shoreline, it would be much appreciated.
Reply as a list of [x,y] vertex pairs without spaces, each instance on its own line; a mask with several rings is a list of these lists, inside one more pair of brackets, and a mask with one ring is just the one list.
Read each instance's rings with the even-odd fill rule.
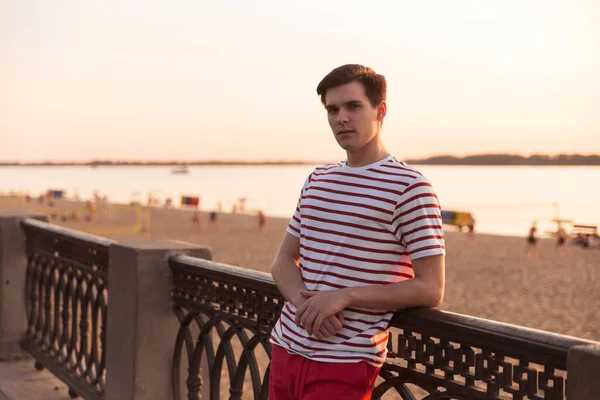
[[[127,203],[148,194],[177,203],[182,195],[201,197],[201,209],[217,202],[230,211],[236,199],[246,208],[289,217],[300,188],[314,166],[190,167],[174,175],[170,167],[0,167],[0,192],[37,195],[64,189],[67,196],[89,198],[98,191],[110,201]],[[480,232],[525,235],[536,219],[551,229],[555,216],[600,225],[600,167],[418,168],[432,182],[443,209],[471,211]]]

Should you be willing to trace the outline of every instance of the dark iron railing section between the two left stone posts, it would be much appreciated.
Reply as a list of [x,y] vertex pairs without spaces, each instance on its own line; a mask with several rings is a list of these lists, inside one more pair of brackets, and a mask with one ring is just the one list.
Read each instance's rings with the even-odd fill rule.
[[108,248],[113,241],[33,219],[27,252],[27,333],[21,346],[69,386],[102,399],[106,384]]

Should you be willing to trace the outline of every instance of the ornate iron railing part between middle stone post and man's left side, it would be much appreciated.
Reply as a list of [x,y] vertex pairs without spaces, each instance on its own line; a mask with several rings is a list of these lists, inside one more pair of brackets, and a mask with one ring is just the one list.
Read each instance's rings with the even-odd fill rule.
[[[174,311],[180,322],[173,357],[173,398],[182,398],[180,368],[185,350],[188,399],[200,399],[203,358],[211,399],[225,397],[222,392],[226,389],[231,399],[242,398],[248,371],[250,381],[246,383],[254,398],[266,399],[269,337],[284,298],[272,280],[264,280],[264,274],[235,268],[224,271],[219,264],[201,260],[188,265],[186,259],[190,261],[183,256],[170,261]],[[264,367],[262,373],[260,366]],[[228,385],[222,381],[224,375],[229,377]]]

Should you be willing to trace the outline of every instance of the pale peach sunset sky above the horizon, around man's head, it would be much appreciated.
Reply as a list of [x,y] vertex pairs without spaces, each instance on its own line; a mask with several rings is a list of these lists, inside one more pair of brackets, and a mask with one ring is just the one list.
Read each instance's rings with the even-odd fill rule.
[[0,0],[0,160],[340,160],[316,86],[388,79],[397,157],[600,153],[600,2]]

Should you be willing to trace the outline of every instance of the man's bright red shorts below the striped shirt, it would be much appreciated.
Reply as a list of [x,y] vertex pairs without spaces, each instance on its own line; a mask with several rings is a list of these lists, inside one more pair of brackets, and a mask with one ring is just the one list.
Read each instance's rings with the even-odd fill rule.
[[313,361],[273,345],[269,400],[368,400],[379,368]]

